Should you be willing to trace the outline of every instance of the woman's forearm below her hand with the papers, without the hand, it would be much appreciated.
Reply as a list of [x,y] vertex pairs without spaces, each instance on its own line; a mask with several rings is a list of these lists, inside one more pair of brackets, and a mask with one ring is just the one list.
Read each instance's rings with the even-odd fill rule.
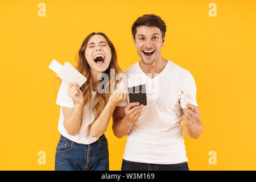
[[82,106],[75,105],[72,113],[64,120],[63,125],[69,135],[75,135],[81,126]]

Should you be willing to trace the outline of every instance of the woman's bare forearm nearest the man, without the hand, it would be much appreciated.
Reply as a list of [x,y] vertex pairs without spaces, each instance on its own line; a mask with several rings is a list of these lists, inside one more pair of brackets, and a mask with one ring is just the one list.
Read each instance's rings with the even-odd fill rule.
[[105,133],[105,131],[108,128],[110,118],[113,114],[113,111],[116,105],[117,104],[114,104],[113,102],[108,101],[104,110],[102,110],[102,113],[100,114],[100,116],[90,126],[91,137],[98,137],[101,134]]

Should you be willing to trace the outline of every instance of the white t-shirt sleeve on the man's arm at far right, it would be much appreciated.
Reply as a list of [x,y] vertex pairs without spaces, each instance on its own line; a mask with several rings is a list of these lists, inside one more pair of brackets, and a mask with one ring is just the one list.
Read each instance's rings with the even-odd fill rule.
[[187,108],[185,106],[186,104],[198,106],[196,102],[196,82],[189,71],[187,72],[187,75],[185,77],[184,86],[181,89],[183,89],[185,91],[185,94],[187,94],[187,100],[180,98],[181,108]]

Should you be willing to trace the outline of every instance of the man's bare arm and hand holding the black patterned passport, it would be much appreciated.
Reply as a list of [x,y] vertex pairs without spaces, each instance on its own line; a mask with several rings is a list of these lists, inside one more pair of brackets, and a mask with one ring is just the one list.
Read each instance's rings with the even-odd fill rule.
[[115,137],[122,138],[130,133],[131,127],[141,115],[142,107],[138,102],[130,103],[126,107],[115,107],[112,126]]

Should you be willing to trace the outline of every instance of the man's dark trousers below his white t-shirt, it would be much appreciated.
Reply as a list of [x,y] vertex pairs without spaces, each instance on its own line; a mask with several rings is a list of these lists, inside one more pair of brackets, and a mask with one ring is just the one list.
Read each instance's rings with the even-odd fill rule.
[[122,171],[189,171],[188,163],[179,164],[148,164],[123,159]]

